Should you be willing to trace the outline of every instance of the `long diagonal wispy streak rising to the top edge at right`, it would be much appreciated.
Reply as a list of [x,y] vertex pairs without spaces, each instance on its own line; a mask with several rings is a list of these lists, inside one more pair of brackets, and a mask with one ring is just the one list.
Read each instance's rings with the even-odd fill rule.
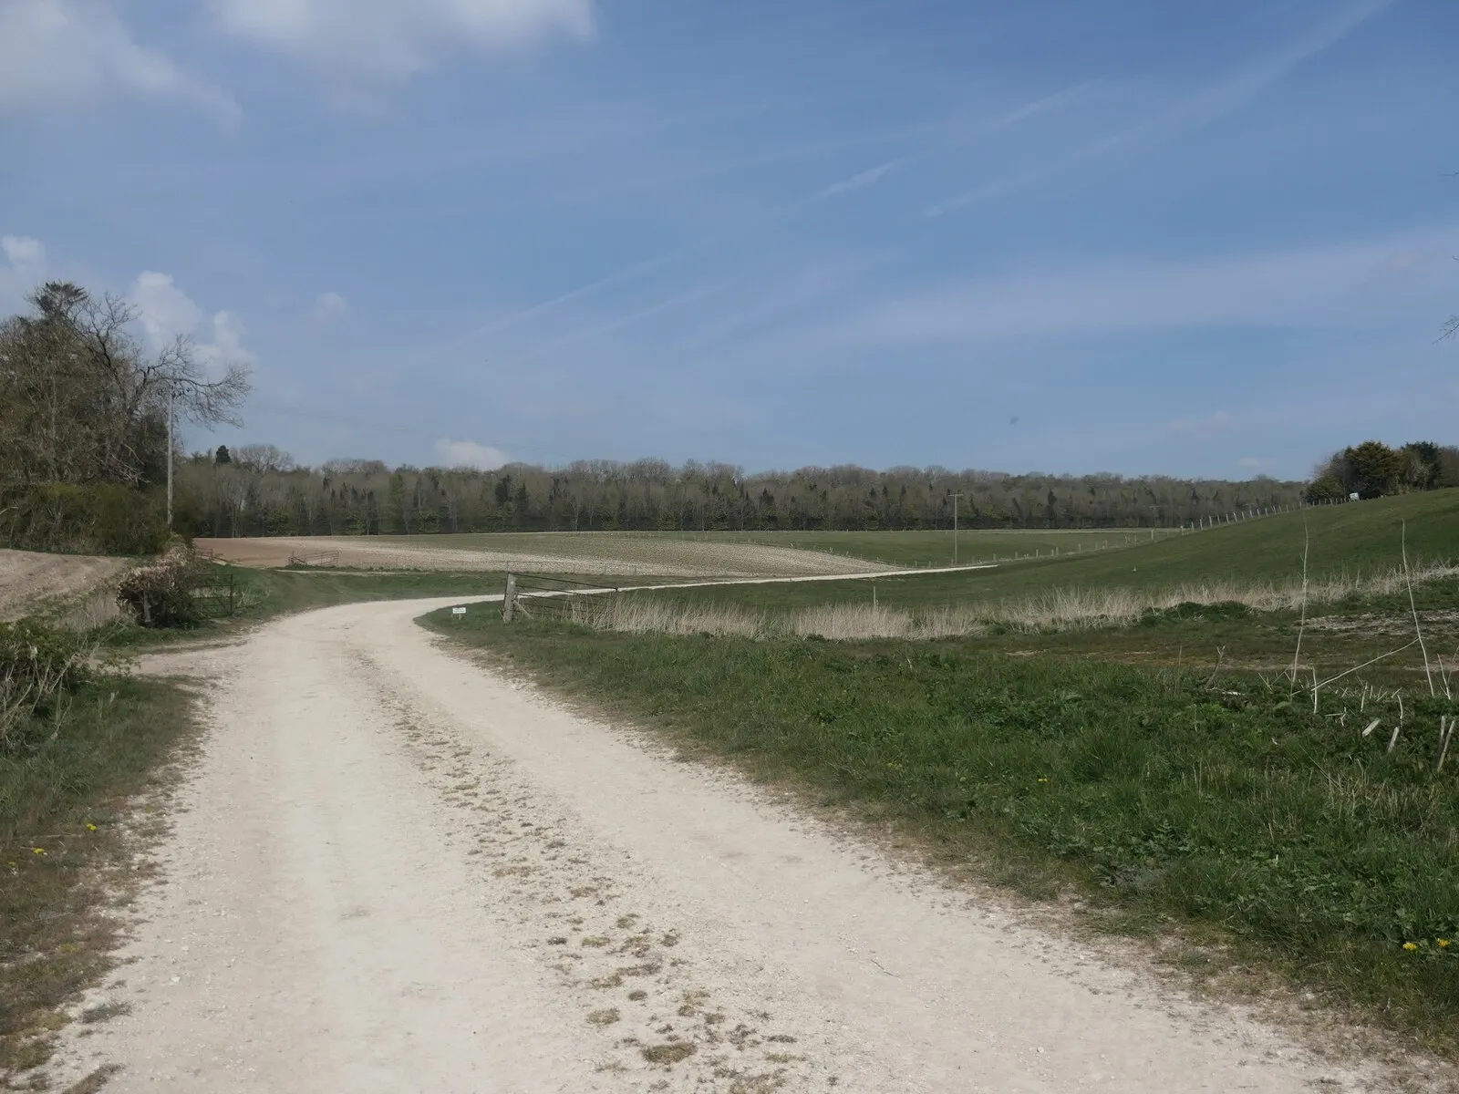
[[1250,67],[1227,76],[1193,95],[1177,99],[1173,105],[1156,112],[1145,121],[1085,144],[1072,155],[1045,166],[1004,175],[954,197],[934,201],[922,213],[928,217],[945,216],[959,209],[1027,190],[1045,179],[1062,175],[1093,160],[1116,153],[1139,155],[1185,133],[1211,125],[1249,106],[1303,63],[1336,45],[1392,4],[1393,0],[1352,0],[1342,6],[1335,16],[1313,28],[1287,48],[1268,54]]

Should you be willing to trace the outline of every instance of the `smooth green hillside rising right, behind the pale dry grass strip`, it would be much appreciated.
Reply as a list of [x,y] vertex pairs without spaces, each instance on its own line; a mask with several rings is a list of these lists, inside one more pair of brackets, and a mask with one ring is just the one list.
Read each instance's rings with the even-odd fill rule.
[[[1303,513],[1280,513],[1154,543],[1145,541],[1123,550],[1018,562],[999,566],[996,570],[886,578],[877,581],[877,597],[889,607],[919,607],[964,600],[1027,597],[1050,588],[1167,588],[1210,581],[1299,582],[1303,516]],[[1404,521],[1408,522],[1411,563],[1459,554],[1459,490],[1385,497],[1306,512],[1312,537],[1309,559],[1312,576],[1398,566]],[[794,608],[870,600],[871,591],[861,583],[830,582],[702,589],[671,595],[753,607]]]

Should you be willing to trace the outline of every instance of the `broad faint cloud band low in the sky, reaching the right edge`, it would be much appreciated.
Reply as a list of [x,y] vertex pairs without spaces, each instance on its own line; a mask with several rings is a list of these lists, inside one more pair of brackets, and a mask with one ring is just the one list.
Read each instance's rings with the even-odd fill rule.
[[1367,325],[1436,308],[1449,283],[1443,241],[1415,239],[1077,270],[1024,271],[859,309],[833,338],[956,343],[1188,327]]

